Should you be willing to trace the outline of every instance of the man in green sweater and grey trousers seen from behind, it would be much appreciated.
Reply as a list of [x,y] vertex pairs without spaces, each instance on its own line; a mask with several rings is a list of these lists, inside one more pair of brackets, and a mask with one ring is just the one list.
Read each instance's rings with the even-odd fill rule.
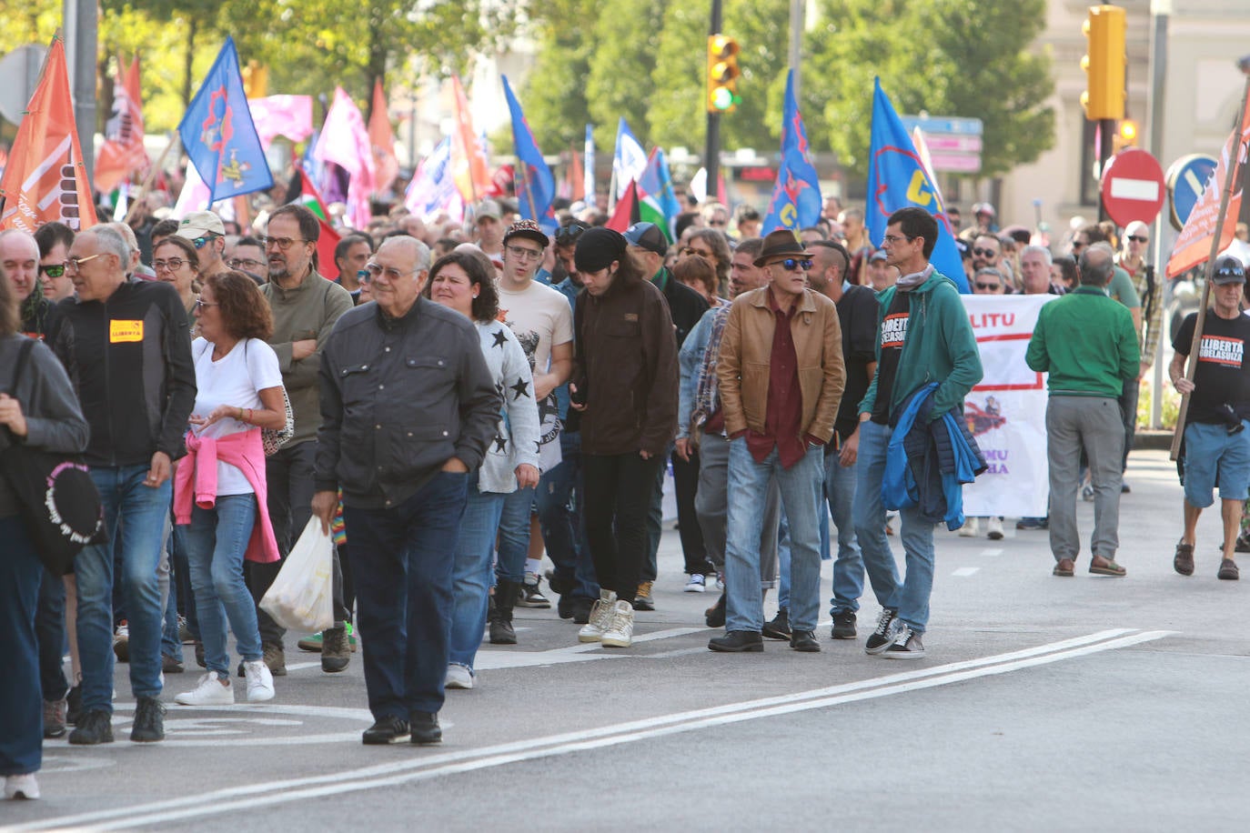
[[1124,422],[1120,395],[1140,372],[1132,315],[1106,293],[1115,252],[1098,242],[1081,252],[1081,285],[1038,315],[1025,362],[1049,372],[1046,457],[1050,466],[1050,550],[1055,576],[1071,576],[1080,535],[1076,491],[1084,447],[1094,483],[1094,557],[1090,572],[1124,576],[1115,563],[1120,526]]

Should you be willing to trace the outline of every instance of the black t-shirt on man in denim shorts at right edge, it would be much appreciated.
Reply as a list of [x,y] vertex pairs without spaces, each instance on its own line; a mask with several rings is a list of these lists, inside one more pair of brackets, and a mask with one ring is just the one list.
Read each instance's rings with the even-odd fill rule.
[[[1172,350],[1189,356],[1198,313],[1191,312],[1180,325]],[[1189,422],[1225,423],[1224,405],[1242,420],[1250,420],[1250,363],[1245,348],[1250,343],[1250,317],[1221,318],[1209,310],[1202,320],[1202,341],[1194,371],[1194,392],[1189,397]]]

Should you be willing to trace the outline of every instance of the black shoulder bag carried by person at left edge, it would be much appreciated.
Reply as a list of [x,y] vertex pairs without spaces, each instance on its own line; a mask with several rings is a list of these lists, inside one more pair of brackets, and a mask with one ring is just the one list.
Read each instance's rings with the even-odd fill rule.
[[[15,391],[34,347],[35,341],[29,340],[18,351]],[[15,438],[8,428],[4,433],[9,443],[0,452],[0,475],[18,496],[40,561],[64,576],[82,547],[106,541],[100,492],[81,455],[42,451]]]

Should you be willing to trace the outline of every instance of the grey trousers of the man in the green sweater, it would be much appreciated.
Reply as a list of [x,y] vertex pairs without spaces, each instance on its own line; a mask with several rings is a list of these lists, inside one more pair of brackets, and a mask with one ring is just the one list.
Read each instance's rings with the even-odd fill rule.
[[1090,551],[1115,558],[1120,546],[1120,482],[1124,416],[1111,397],[1051,396],[1046,403],[1046,460],[1050,465],[1050,551],[1055,561],[1076,559],[1081,448],[1094,486],[1094,535]]

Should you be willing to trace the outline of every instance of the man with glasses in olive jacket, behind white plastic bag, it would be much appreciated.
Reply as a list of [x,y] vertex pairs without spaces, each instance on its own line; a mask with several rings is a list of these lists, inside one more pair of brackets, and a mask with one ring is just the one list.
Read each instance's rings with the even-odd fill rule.
[[[278,538],[281,559],[248,564],[251,594],[258,604],[274,583],[291,545],[309,521],[312,501],[312,462],[316,432],[321,427],[318,398],[318,372],[321,347],[334,323],[352,307],[351,293],[328,281],[312,266],[321,225],[315,214],[299,205],[284,205],[269,217],[265,255],[269,282],[260,287],[274,312],[274,335],[269,343],[278,353],[282,385],[295,415],[295,436],[265,460],[269,482],[269,518]],[[202,251],[202,250],[201,250]],[[338,556],[334,562],[334,627],[322,634],[321,669],[342,671],[351,659],[346,623],[350,614],[342,606],[342,577]],[[258,608],[260,641],[265,664],[275,677],[286,674],[285,631]]]

